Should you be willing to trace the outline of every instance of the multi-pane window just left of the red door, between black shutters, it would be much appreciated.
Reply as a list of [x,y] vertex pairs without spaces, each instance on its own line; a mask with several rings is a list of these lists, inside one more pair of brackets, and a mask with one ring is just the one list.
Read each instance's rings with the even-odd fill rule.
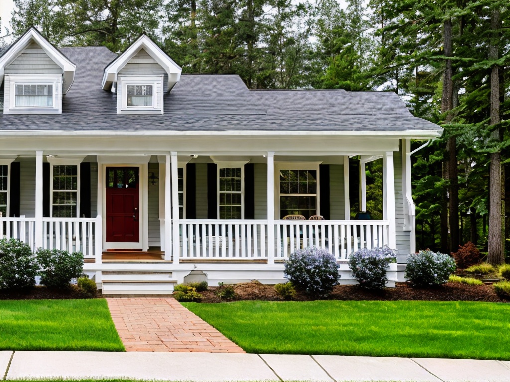
[[78,217],[78,166],[52,167],[52,216]]

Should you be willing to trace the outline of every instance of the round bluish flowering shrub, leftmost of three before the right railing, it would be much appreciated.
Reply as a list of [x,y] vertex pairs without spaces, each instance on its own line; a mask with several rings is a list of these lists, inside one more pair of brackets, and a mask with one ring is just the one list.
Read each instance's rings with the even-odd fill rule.
[[327,250],[308,247],[289,256],[285,262],[285,277],[308,294],[325,297],[338,284],[338,267],[335,256]]

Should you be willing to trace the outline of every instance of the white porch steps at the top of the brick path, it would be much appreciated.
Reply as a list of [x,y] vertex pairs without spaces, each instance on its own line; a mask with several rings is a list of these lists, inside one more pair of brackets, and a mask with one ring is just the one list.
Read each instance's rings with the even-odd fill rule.
[[104,271],[101,280],[105,296],[168,296],[175,284],[172,272]]

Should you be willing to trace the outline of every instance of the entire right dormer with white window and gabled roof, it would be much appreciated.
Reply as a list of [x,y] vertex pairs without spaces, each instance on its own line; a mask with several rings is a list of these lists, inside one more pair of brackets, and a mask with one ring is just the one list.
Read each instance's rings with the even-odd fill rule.
[[117,114],[163,114],[163,95],[179,81],[181,71],[142,35],[105,68],[102,86],[117,93]]

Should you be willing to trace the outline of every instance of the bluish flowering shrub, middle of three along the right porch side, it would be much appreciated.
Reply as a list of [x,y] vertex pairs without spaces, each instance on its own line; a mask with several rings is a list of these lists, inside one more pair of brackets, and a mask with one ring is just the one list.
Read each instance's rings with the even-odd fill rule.
[[388,247],[378,247],[371,250],[362,248],[350,255],[348,265],[352,277],[363,288],[382,289],[388,282],[387,267],[395,262],[395,252]]

